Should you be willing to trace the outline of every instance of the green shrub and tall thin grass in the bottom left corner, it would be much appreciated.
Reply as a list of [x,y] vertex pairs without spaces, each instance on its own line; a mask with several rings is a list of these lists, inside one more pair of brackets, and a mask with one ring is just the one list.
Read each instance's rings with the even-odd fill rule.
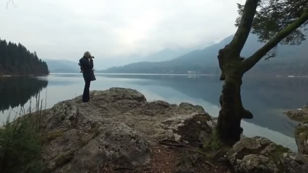
[[40,92],[35,97],[35,107],[25,110],[22,106],[11,115],[0,128],[0,173],[39,173],[43,170],[41,161],[42,144],[40,129],[42,105]]

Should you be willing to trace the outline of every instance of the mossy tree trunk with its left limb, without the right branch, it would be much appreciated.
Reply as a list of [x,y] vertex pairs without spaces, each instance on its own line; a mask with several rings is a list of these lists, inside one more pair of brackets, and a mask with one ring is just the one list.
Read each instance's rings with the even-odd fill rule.
[[224,84],[219,100],[221,109],[218,116],[217,132],[220,140],[228,144],[240,140],[241,119],[252,118],[252,114],[242,105],[241,85],[246,68],[244,68],[240,54],[248,38],[257,5],[258,1],[256,0],[246,1],[236,34],[218,54],[221,69],[220,80],[224,80]]

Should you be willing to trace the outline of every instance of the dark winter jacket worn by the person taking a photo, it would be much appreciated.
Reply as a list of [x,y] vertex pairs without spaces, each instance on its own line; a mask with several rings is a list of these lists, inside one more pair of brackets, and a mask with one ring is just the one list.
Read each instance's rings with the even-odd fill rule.
[[83,57],[79,60],[80,66],[83,70],[83,76],[85,81],[93,81],[96,80],[94,71],[93,71],[93,60],[90,60]]

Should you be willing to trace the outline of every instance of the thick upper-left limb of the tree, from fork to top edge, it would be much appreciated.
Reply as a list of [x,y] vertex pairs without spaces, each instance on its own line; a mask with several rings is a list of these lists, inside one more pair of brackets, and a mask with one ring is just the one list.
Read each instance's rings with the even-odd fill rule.
[[230,42],[229,45],[227,45],[230,50],[236,51],[237,54],[240,54],[245,42],[247,40],[247,37],[250,33],[251,25],[253,22],[254,15],[256,13],[256,8],[258,6],[259,0],[247,0],[241,22],[238,26],[238,30],[235,33],[232,41]]

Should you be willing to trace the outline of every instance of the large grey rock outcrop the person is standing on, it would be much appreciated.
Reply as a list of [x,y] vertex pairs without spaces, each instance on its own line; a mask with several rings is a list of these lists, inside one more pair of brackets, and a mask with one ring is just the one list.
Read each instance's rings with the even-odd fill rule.
[[[131,89],[92,91],[59,102],[43,117],[47,172],[95,172],[150,162],[150,146],[170,139],[197,145],[216,121],[201,106],[147,102]],[[196,143],[197,141],[197,143]]]

